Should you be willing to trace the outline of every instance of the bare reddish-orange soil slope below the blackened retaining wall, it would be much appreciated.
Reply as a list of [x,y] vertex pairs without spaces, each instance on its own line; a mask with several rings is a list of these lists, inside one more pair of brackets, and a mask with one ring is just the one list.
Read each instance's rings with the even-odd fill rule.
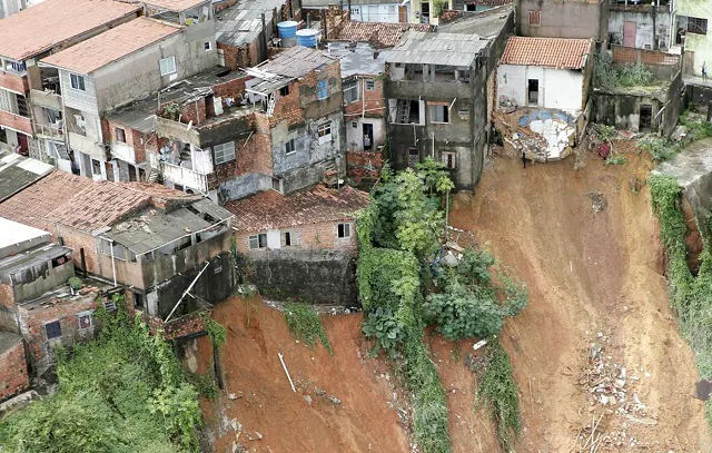
[[[234,298],[219,305],[214,316],[228,329],[221,357],[226,393],[236,397],[204,405],[212,427],[227,427],[219,429],[216,452],[233,452],[236,439],[249,452],[411,451],[395,408],[403,395],[393,387],[387,362],[367,357],[360,315],[323,316],[333,356],[320,345],[307,348],[296,343],[284,314],[258,298]],[[198,357],[202,366],[209,361],[207,337],[198,342]],[[241,425],[239,437],[229,429],[231,418]]]

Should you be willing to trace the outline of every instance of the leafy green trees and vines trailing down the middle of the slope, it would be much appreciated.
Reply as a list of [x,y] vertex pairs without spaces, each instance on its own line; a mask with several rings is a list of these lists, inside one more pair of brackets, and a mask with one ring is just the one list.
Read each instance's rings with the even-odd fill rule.
[[[493,283],[494,259],[486,252],[467,250],[455,268],[438,264],[445,232],[442,205],[453,187],[442,165],[429,158],[417,171],[394,174],[386,167],[357,221],[364,333],[392,357],[402,357],[399,368],[413,393],[415,440],[426,453],[449,452],[452,445],[445,391],[423,339],[425,326],[434,324],[451,339],[488,336],[527,301],[526,289],[504,273],[500,285]],[[501,384],[513,392],[484,396],[494,411],[514,408],[515,425],[508,417],[495,414],[495,420],[502,433],[518,433],[518,406],[500,401],[517,395],[508,372]]]

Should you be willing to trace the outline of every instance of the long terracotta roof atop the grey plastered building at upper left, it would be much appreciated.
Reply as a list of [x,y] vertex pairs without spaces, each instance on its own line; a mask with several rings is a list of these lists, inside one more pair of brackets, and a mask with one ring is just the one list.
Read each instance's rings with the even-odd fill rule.
[[89,73],[178,33],[181,29],[178,24],[141,17],[51,55],[42,59],[42,62],[73,72]]

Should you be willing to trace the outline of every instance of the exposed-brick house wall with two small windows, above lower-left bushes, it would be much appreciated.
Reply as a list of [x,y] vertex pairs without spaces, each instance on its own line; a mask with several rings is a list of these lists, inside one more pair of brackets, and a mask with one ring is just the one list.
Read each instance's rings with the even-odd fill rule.
[[[18,308],[20,332],[27,341],[34,374],[44,373],[53,364],[53,353],[58,347],[93,337],[95,319],[92,318],[91,327],[80,328],[77,314],[96,308],[97,293],[88,289],[83,289],[82,293],[70,298],[51,299],[39,306],[30,304]],[[55,321],[59,321],[61,337],[48,341],[44,324]]]

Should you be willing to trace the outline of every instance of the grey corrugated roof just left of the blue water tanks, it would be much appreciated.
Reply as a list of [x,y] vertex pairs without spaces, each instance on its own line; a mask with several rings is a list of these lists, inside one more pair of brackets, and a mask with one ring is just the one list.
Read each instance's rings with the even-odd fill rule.
[[244,46],[257,39],[265,23],[273,19],[275,8],[287,0],[244,0],[215,14],[216,40],[228,46]]

